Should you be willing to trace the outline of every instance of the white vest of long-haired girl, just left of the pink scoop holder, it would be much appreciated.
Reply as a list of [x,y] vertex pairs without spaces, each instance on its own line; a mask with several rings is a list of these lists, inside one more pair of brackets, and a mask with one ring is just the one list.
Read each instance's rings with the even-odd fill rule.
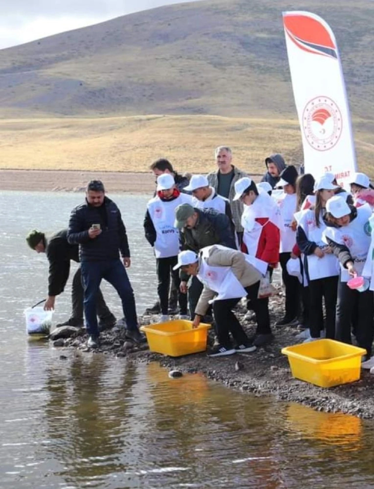
[[[327,244],[322,241],[322,234],[326,229],[326,224],[322,219],[322,212],[319,217],[319,227],[315,222],[314,210],[306,210],[301,213],[297,224],[303,229],[307,240],[314,242],[322,250],[327,248]],[[338,259],[332,253],[326,254],[323,258],[312,254],[307,255],[308,273],[310,280],[319,278],[334,277],[339,274]]]

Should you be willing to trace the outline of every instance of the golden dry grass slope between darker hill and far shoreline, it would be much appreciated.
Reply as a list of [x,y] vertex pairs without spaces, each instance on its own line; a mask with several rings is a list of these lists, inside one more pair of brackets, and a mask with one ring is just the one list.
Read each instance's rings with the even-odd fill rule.
[[[360,168],[372,174],[372,133],[356,133]],[[154,159],[167,157],[181,172],[207,172],[220,144],[229,144],[237,166],[252,174],[262,174],[265,156],[274,152],[282,152],[289,163],[302,160],[298,123],[291,119],[13,119],[0,121],[0,141],[0,168],[14,169],[144,172]]]

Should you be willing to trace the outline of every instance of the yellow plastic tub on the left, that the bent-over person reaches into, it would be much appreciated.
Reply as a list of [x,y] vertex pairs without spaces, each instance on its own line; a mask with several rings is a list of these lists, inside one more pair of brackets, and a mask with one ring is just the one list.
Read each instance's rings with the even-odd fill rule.
[[210,324],[200,323],[192,328],[192,321],[177,319],[166,323],[142,326],[149,350],[169,356],[183,356],[204,352],[207,349],[207,337]]

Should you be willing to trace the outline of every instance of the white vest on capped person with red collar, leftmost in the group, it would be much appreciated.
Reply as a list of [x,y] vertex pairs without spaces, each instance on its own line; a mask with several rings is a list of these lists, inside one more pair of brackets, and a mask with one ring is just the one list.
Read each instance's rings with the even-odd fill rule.
[[158,196],[149,200],[147,209],[156,230],[154,244],[156,258],[168,258],[179,253],[179,229],[174,227],[175,208],[191,204],[191,196],[180,194],[173,200],[161,200]]

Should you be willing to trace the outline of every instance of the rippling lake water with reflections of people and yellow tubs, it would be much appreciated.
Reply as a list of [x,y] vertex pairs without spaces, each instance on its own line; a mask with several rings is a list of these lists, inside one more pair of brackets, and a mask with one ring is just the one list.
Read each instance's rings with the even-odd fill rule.
[[[113,196],[139,313],[157,298],[147,199]],[[374,488],[373,422],[241,394],[201,375],[171,379],[155,363],[29,341],[23,310],[46,296],[48,264],[25,235],[66,227],[82,200],[0,194],[0,489]],[[54,322],[69,315],[70,280]],[[107,284],[103,293],[120,318],[117,294]]]

